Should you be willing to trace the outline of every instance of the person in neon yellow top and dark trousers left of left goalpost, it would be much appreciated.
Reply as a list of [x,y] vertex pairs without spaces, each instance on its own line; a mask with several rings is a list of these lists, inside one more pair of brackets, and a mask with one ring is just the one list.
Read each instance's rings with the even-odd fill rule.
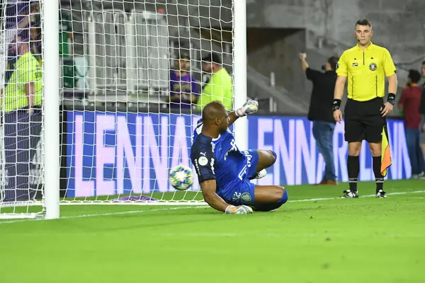
[[28,200],[35,193],[30,172],[41,137],[42,69],[30,52],[28,30],[23,30],[11,43],[11,56],[16,63],[4,96],[1,110],[4,128],[6,185],[5,200]]

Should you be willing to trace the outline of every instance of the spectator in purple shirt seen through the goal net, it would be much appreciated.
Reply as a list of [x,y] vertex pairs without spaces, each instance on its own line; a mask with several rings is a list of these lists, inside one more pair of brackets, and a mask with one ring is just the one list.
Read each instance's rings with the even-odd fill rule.
[[170,74],[170,103],[171,108],[191,108],[199,96],[199,86],[191,76],[189,67],[191,57],[183,54],[176,60],[176,68]]

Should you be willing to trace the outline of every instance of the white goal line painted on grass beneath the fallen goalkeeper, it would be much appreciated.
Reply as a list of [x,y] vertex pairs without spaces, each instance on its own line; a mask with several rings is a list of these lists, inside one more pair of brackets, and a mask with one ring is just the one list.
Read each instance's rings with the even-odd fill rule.
[[[407,194],[419,194],[423,192],[425,192],[425,190],[416,190],[414,192],[390,192],[390,193],[387,193],[387,195],[407,195]],[[375,195],[362,195],[360,197],[375,197]],[[305,199],[305,200],[289,200],[288,202],[314,202],[318,200],[339,200],[339,199],[340,199],[339,197],[328,197],[328,198],[316,198],[316,199]],[[106,212],[106,213],[99,213],[99,214],[70,215],[70,216],[62,216],[60,217],[60,219],[135,214],[135,213],[142,213],[142,212],[164,212],[167,210],[193,209],[193,208],[200,208],[200,207],[205,207],[205,206],[191,205],[190,207],[167,207],[164,209],[130,210],[128,212]],[[46,219],[19,219],[19,220],[11,220],[11,221],[0,221],[0,225],[17,223],[17,222],[27,222],[27,221],[40,221],[40,220],[46,220]]]

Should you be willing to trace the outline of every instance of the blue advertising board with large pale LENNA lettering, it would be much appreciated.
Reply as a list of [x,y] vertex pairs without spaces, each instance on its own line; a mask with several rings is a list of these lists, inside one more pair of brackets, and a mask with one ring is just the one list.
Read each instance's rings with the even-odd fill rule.
[[[168,168],[191,166],[191,135],[196,115],[69,111],[67,196],[91,197],[174,190]],[[237,127],[237,122],[235,124]],[[297,185],[322,179],[324,161],[305,117],[249,116],[248,146],[275,151],[278,160],[261,184]],[[387,178],[409,178],[411,168],[404,124],[388,121],[392,166]],[[336,125],[334,162],[338,180],[348,180],[344,124]],[[374,180],[368,144],[361,151],[359,180]],[[195,174],[196,175],[196,174]],[[199,190],[198,180],[191,190]]]

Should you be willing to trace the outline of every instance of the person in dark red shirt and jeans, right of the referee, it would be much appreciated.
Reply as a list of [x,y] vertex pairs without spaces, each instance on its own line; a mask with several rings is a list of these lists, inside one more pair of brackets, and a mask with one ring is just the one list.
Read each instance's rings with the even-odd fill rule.
[[406,134],[407,149],[409,151],[410,164],[412,165],[412,178],[425,179],[425,161],[419,142],[419,123],[421,115],[421,88],[418,82],[421,74],[416,70],[409,70],[408,85],[404,87],[402,97],[399,100],[399,108],[404,112],[404,131]]

